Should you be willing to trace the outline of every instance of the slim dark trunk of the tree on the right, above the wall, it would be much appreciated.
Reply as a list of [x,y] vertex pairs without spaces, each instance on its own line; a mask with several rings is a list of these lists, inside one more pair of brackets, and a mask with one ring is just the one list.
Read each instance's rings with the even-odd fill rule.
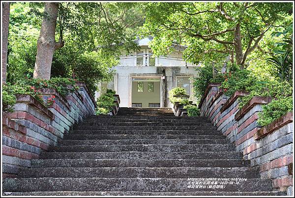
[[241,41],[240,24],[236,24],[234,45],[235,45],[235,52],[236,52],[236,64],[240,65],[240,69],[244,69],[244,66],[241,64],[243,60],[243,48],[242,48],[242,41]]

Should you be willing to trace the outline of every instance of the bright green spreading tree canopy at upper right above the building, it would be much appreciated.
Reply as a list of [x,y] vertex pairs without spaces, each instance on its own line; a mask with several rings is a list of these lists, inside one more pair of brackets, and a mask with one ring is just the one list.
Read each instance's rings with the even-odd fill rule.
[[[154,36],[150,45],[154,54],[169,54],[172,43],[179,43],[188,46],[185,60],[196,64],[223,62],[232,53],[237,58],[237,24],[247,62],[247,56],[256,53],[254,42],[264,43],[258,37],[292,24],[293,17],[290,2],[150,2],[142,9],[147,15],[142,32]],[[247,50],[248,46],[253,48]]]

